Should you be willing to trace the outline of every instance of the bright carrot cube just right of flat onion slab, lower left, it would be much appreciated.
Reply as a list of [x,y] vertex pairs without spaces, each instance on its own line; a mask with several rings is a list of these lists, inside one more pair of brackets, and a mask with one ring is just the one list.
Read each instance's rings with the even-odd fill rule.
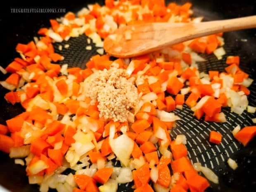
[[50,145],[42,138],[37,138],[31,142],[30,152],[40,156],[40,154],[45,154]]

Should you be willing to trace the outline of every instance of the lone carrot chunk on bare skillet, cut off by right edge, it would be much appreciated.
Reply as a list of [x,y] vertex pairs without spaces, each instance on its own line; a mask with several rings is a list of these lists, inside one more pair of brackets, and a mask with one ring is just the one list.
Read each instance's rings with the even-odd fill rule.
[[235,134],[235,138],[246,146],[250,140],[256,135],[256,126],[246,126]]

